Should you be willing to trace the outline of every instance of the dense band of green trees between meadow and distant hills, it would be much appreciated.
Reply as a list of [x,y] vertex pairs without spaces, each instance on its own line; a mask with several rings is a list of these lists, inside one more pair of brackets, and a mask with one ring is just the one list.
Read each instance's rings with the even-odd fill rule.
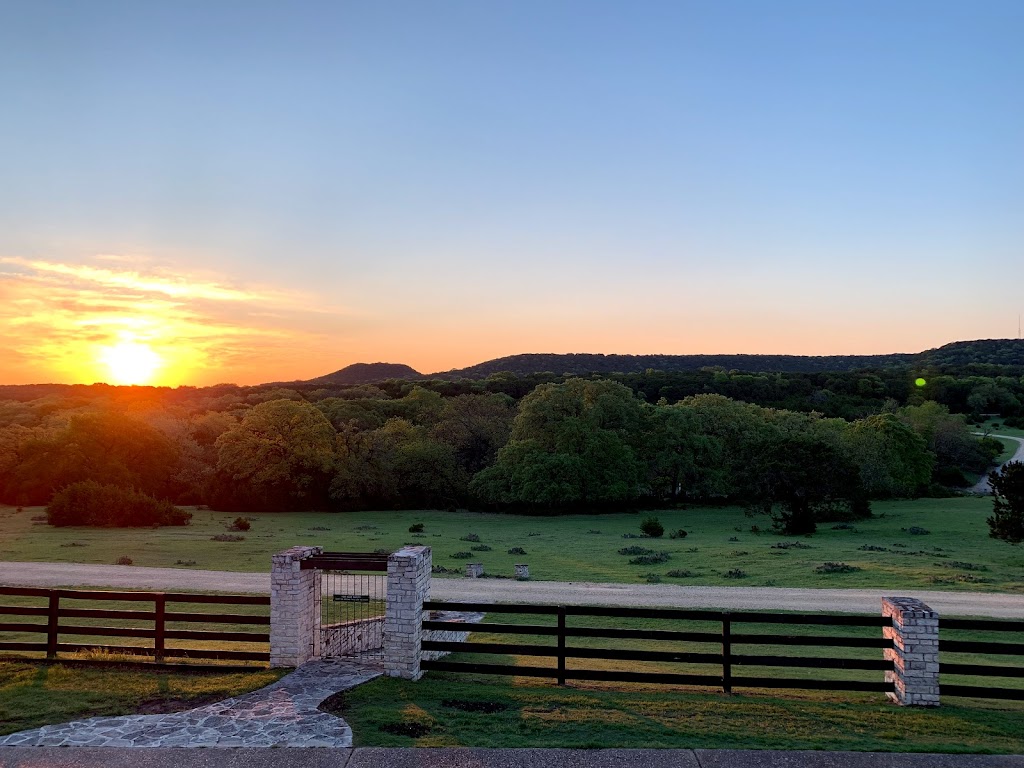
[[[796,530],[951,493],[1020,419],[1024,380],[876,370],[376,385],[0,387],[0,501],[75,483],[215,509],[534,513],[741,503]],[[803,520],[803,522],[801,522]]]

